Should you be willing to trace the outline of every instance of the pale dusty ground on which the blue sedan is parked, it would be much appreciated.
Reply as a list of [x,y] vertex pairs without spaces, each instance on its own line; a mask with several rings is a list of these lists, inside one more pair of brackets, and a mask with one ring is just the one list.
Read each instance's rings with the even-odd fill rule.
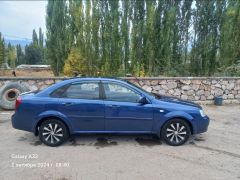
[[208,132],[180,147],[150,136],[84,135],[52,148],[0,111],[0,179],[240,180],[240,105],[204,109]]

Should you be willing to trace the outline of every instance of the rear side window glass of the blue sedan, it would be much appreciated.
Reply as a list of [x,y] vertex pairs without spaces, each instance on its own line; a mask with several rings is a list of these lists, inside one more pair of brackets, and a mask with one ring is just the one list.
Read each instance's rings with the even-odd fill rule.
[[99,85],[91,82],[70,84],[57,89],[51,96],[71,99],[99,99]]

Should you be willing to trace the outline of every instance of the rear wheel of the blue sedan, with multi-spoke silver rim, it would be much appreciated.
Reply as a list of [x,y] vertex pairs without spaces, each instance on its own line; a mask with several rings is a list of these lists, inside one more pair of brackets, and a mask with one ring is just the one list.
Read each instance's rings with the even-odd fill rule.
[[48,146],[59,146],[69,137],[66,125],[57,119],[44,121],[39,128],[39,139]]

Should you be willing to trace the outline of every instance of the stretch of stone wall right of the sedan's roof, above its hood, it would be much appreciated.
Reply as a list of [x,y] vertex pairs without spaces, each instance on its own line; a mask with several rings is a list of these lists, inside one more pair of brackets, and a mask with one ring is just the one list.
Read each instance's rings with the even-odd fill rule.
[[222,96],[225,102],[240,103],[240,78],[144,78],[129,79],[143,89],[183,100],[208,101]]

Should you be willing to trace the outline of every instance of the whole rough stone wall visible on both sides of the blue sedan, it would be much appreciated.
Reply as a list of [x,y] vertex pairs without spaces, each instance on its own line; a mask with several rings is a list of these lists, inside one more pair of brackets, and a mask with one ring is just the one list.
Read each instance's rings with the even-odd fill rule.
[[[0,77],[1,86],[18,81],[30,90],[44,89],[66,78],[4,78]],[[214,97],[222,96],[225,103],[240,103],[240,77],[149,77],[123,78],[149,92],[175,96],[184,100],[213,103]]]

